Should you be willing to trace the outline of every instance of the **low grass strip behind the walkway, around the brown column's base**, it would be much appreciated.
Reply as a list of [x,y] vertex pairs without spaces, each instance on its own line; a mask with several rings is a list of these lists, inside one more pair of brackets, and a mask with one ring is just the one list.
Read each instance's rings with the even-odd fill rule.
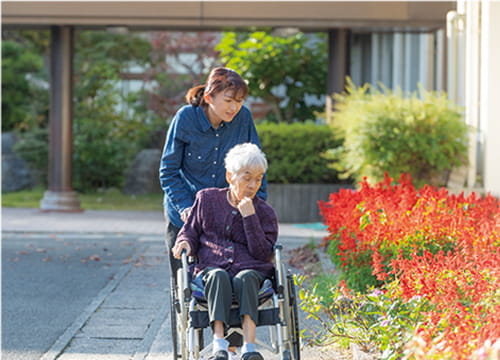
[[[45,189],[36,188],[2,194],[2,207],[39,208]],[[126,195],[110,189],[78,194],[87,210],[163,211],[163,194]]]

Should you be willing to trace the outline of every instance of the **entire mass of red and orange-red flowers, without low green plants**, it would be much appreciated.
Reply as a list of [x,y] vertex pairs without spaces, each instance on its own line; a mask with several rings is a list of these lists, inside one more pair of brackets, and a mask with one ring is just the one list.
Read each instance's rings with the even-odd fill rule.
[[500,201],[417,191],[408,176],[360,185],[320,203],[330,232],[324,245],[348,286],[391,282],[391,296],[428,301],[408,359],[469,359],[478,349],[498,359]]

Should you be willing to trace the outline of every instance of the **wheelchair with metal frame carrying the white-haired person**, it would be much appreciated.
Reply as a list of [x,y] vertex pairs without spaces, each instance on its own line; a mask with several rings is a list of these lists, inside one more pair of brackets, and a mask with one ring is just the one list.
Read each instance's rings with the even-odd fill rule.
[[[259,320],[257,327],[268,327],[269,337],[256,343],[263,350],[279,354],[280,360],[300,360],[300,333],[297,296],[293,275],[281,257],[282,246],[274,247],[274,278],[264,281],[259,290]],[[212,333],[203,289],[191,279],[191,262],[182,254],[182,268],[176,274],[176,287],[172,288],[171,325],[174,360],[200,360],[211,354],[211,341],[204,346],[204,330]],[[172,281],[173,283],[173,281]],[[242,333],[238,304],[233,301],[226,339]],[[241,337],[239,337],[241,340]],[[238,344],[241,346],[241,344]]]

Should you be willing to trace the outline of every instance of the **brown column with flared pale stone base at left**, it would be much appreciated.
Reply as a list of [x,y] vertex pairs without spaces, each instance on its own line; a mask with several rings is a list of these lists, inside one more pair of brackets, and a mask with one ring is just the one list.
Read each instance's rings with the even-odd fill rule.
[[50,126],[48,190],[42,211],[78,212],[72,190],[73,156],[73,27],[53,26],[50,48]]

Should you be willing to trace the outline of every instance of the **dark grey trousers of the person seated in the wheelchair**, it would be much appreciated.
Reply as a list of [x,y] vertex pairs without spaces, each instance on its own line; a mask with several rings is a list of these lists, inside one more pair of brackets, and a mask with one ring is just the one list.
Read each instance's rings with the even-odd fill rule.
[[227,327],[234,298],[238,301],[240,317],[250,315],[257,324],[259,319],[258,293],[266,277],[256,270],[242,270],[233,278],[223,269],[207,268],[201,274],[205,285],[208,316],[213,327],[215,320],[222,321]]

